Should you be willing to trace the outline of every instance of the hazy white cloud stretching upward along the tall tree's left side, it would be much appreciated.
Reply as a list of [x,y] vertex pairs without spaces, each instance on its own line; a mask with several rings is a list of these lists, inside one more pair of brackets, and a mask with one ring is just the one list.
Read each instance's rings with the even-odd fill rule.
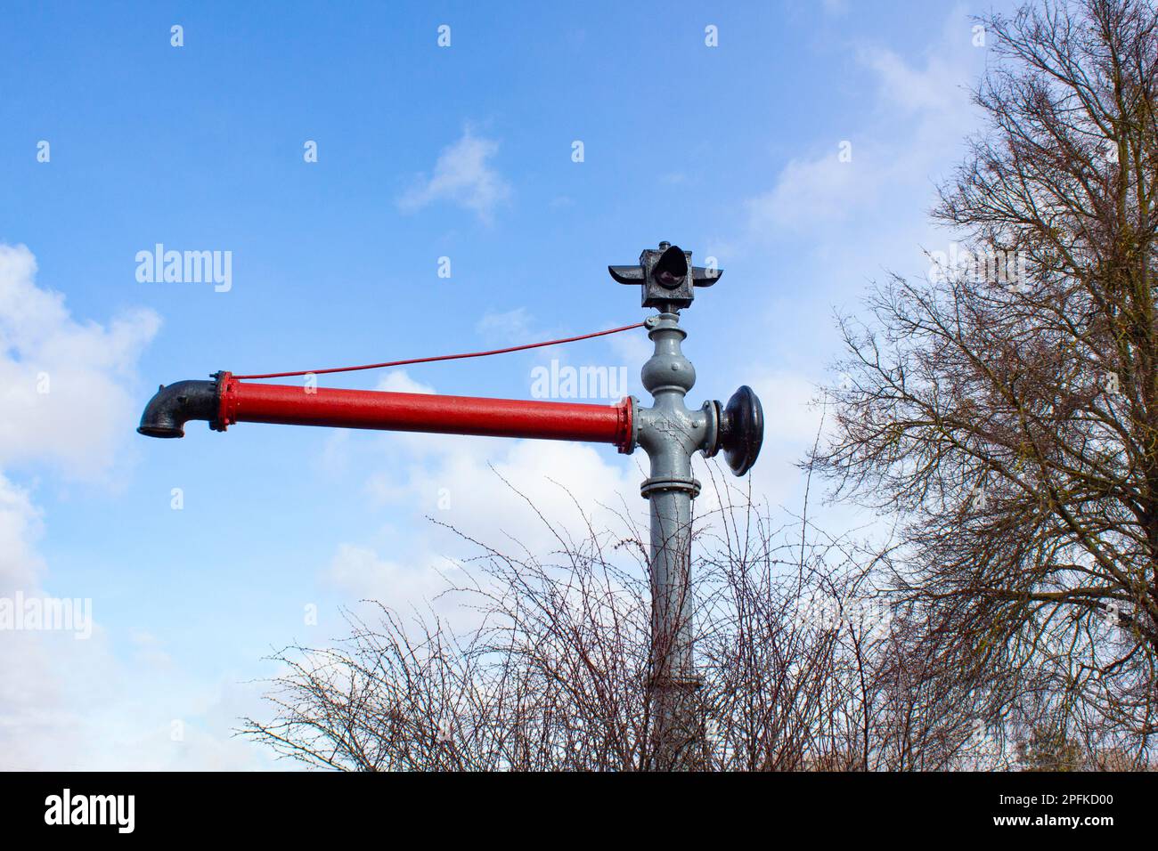
[[[864,118],[815,139],[780,168],[768,191],[748,199],[746,233],[735,240],[735,252],[750,254],[749,263],[769,262],[769,249],[780,261],[784,247],[793,252],[787,259],[792,286],[768,309],[776,327],[784,327],[785,310],[791,310],[809,330],[818,328],[815,314],[826,314],[834,303],[846,309],[881,270],[919,274],[929,264],[922,245],[946,239],[928,211],[936,183],[959,162],[962,139],[977,127],[968,87],[984,71],[985,51],[973,47],[973,21],[963,7],[943,20],[940,37],[918,53],[849,45],[864,69],[858,88],[865,90],[865,103],[857,110]],[[850,162],[838,157],[842,140],[852,144]],[[833,347],[824,351],[829,343]],[[813,404],[814,384],[836,379],[824,364],[840,345],[835,333],[821,338],[789,330],[775,345],[755,351],[757,368],[743,376],[765,415],[753,490],[774,505],[801,505],[806,478],[796,464],[812,448],[822,415]],[[826,432],[833,425],[829,416]],[[843,506],[821,508],[818,500],[809,512],[833,530],[849,528],[856,513]],[[855,519],[858,526],[865,522],[864,516]]]

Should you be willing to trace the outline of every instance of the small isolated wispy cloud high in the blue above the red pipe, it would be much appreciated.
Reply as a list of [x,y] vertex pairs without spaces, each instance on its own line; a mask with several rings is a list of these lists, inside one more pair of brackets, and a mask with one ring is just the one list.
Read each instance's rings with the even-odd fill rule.
[[420,210],[434,201],[448,200],[474,211],[490,222],[494,210],[511,197],[511,185],[490,164],[498,153],[493,139],[474,135],[468,127],[462,138],[442,149],[434,174],[422,176],[417,185],[398,199],[403,212]]

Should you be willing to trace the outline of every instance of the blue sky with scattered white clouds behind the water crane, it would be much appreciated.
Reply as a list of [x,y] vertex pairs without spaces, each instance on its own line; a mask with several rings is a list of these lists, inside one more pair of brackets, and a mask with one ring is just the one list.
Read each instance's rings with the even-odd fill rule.
[[[91,621],[0,630],[0,768],[281,768],[234,735],[269,714],[267,656],[340,638],[360,600],[433,600],[471,551],[431,518],[547,551],[500,476],[560,523],[579,519],[558,483],[646,511],[645,456],[614,447],[204,423],[148,440],[160,383],[638,322],[606,266],[666,240],[724,269],[682,317],[689,406],[750,384],[754,491],[797,509],[834,311],[948,250],[928,213],[991,61],[970,16],[1005,7],[6,3],[0,602],[87,601]],[[152,280],[157,244],[222,273]],[[530,398],[555,360],[646,402],[648,351],[633,331],[321,386]]]

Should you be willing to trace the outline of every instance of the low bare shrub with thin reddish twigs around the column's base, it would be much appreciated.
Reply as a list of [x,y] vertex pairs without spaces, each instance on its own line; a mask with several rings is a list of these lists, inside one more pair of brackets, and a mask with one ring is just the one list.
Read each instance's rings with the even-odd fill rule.
[[[721,479],[717,478],[717,486]],[[697,520],[695,624],[704,770],[948,768],[972,747],[960,704],[895,688],[899,634],[872,588],[885,553],[807,516],[774,526],[719,491]],[[734,498],[734,501],[731,501]],[[651,600],[646,535],[556,534],[545,557],[476,550],[448,588],[475,614],[350,615],[335,647],[291,647],[270,721],[242,731],[284,756],[343,770],[646,769]],[[886,663],[887,662],[887,663]],[[919,689],[919,687],[917,687]],[[907,719],[907,726],[897,724]]]

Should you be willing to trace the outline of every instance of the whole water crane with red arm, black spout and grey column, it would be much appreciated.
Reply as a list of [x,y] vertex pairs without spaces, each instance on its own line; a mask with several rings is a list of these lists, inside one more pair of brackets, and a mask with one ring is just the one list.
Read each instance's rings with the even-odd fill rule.
[[[639,489],[651,504],[650,692],[653,725],[647,768],[688,769],[696,765],[704,727],[696,711],[695,692],[701,681],[692,656],[691,501],[699,493],[699,482],[691,475],[691,457],[696,453],[712,457],[723,452],[732,472],[745,475],[760,454],[763,410],[748,387],[736,390],[727,404],[709,401],[689,409],[684,403],[696,383],[696,371],[682,351],[687,331],[680,327],[680,310],[689,308],[696,291],[712,286],[723,270],[694,266],[690,251],[661,242],[659,248],[645,249],[638,264],[608,266],[608,271],[621,284],[639,286],[642,307],[657,311],[642,323],[655,346],[642,373],[643,386],[652,396],[650,408],[640,405],[633,396],[615,405],[481,398],[257,381],[316,373],[239,376],[218,372],[210,381],[177,381],[162,386],[145,406],[137,431],[149,438],[181,438],[188,421],[206,420],[210,428],[219,432],[239,423],[269,423],[577,440],[610,443],[625,454],[636,447],[643,448],[651,462],[650,475]],[[536,345],[549,344],[499,351]],[[316,372],[347,372],[494,353],[475,352]]]

